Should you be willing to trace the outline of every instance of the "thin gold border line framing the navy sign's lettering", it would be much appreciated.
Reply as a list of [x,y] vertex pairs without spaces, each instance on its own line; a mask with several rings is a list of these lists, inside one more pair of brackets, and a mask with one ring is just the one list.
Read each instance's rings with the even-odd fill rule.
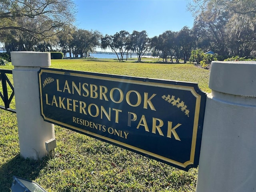
[[[58,69],[59,70],[59,69]],[[42,101],[42,81],[41,81],[41,74],[43,72],[46,73],[52,73],[52,74],[62,74],[65,75],[65,73],[68,73],[68,76],[76,76],[76,77],[86,77],[86,78],[93,78],[93,79],[100,79],[100,80],[108,80],[108,81],[114,81],[114,82],[125,82],[125,83],[132,83],[132,84],[139,84],[139,85],[146,85],[146,86],[156,86],[156,87],[162,87],[162,88],[172,88],[172,89],[178,89],[178,90],[187,90],[190,91],[195,97],[196,97],[196,108],[195,108],[195,115],[194,115],[194,126],[193,126],[193,134],[192,134],[192,143],[191,143],[191,151],[190,151],[190,160],[184,162],[184,163],[180,163],[177,162],[175,160],[160,156],[158,154],[154,154],[152,152],[148,152],[146,150],[142,150],[140,148],[125,144],[123,142],[119,142],[117,140],[102,136],[102,135],[98,135],[95,134],[93,132],[90,131],[86,131],[68,124],[65,124],[63,122],[59,122],[50,118],[47,118],[44,115],[44,111],[43,111],[43,101]],[[90,73],[90,72],[89,72]],[[118,76],[118,75],[115,75]],[[50,122],[56,123],[56,124],[60,124],[69,128],[72,128],[74,130],[80,131],[80,132],[84,132],[88,135],[92,135],[94,137],[98,137],[104,140],[107,140],[109,142],[112,143],[116,143],[120,146],[124,146],[126,148],[130,148],[132,150],[141,152],[143,154],[148,154],[152,157],[158,158],[160,160],[178,165],[180,167],[186,168],[188,165],[190,164],[194,164],[194,156],[195,156],[195,150],[196,150],[196,137],[197,137],[197,130],[198,130],[198,120],[199,120],[199,112],[200,112],[200,102],[201,102],[201,95],[196,93],[196,91],[194,90],[194,87],[192,86],[180,86],[180,85],[172,85],[172,84],[162,84],[162,83],[154,83],[154,82],[143,82],[143,81],[138,81],[138,80],[127,80],[127,79],[121,79],[121,78],[112,78],[112,77],[104,77],[104,76],[95,76],[95,75],[88,75],[88,74],[81,74],[81,73],[75,73],[75,72],[62,72],[62,71],[55,71],[55,70],[44,70],[41,68],[41,71],[39,73],[39,86],[40,86],[40,104],[41,104],[41,114],[44,117],[45,120],[48,120]]]

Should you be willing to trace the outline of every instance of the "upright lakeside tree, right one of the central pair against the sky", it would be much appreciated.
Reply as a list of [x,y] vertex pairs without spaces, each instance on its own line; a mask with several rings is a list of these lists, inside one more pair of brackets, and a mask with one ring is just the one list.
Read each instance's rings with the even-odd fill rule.
[[138,62],[141,61],[142,56],[145,52],[150,50],[150,42],[148,34],[145,30],[138,32],[133,31],[131,34],[132,50],[138,55]]

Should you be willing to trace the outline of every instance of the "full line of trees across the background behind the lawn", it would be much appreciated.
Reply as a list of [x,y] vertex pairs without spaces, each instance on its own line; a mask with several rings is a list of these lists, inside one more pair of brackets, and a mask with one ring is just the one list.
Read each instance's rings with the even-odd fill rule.
[[[256,56],[255,0],[190,0],[192,29],[165,31],[148,37],[145,30],[125,30],[105,35],[97,30],[78,29],[72,0],[2,0],[0,42],[10,51],[61,51],[64,56],[84,57],[97,47],[110,49],[118,60],[145,53],[171,62],[186,63],[192,50],[212,50],[219,58]],[[174,61],[175,60],[175,61]]]

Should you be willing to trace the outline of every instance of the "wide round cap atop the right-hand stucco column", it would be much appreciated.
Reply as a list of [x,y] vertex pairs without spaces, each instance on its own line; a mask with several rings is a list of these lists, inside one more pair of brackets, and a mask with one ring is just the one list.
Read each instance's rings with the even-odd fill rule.
[[233,95],[256,95],[256,62],[213,61],[209,88]]

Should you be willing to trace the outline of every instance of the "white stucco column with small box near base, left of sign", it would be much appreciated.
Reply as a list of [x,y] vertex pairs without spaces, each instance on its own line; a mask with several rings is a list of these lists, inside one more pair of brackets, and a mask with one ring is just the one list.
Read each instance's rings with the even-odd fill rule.
[[54,138],[54,125],[40,115],[38,71],[51,65],[50,53],[11,52],[20,155],[38,159],[47,154],[45,142]]

